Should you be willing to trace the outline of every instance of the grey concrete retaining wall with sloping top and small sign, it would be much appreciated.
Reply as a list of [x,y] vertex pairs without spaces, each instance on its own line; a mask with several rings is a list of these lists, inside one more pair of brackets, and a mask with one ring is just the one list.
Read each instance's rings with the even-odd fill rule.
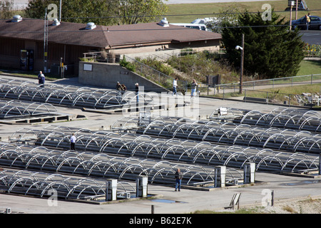
[[139,76],[119,63],[88,63],[79,62],[78,82],[90,86],[116,88],[116,83],[124,84],[128,90],[135,89],[135,83],[144,86],[145,91],[167,92],[165,88]]

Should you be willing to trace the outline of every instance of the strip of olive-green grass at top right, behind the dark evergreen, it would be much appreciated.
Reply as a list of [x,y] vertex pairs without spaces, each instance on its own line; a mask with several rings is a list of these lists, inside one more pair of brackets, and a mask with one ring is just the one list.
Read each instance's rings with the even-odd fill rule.
[[[320,9],[320,0],[306,1],[308,9]],[[212,3],[212,4],[168,4],[166,18],[170,23],[190,23],[198,18],[213,17],[227,9],[228,6],[237,6],[240,11],[247,9],[249,12],[263,12],[263,4],[270,4],[274,11],[286,20],[290,20],[290,11],[285,11],[287,1],[252,1],[252,2],[231,2],[231,3]],[[309,11],[311,15],[321,16],[321,11]],[[297,17],[305,16],[307,11],[298,11]],[[295,11],[292,11],[292,19],[295,19]]]

